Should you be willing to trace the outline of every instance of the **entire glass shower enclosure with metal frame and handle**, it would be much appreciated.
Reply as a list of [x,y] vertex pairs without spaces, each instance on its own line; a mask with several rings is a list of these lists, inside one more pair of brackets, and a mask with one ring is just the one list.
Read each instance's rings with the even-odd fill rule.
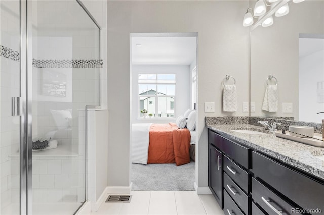
[[100,106],[100,27],[78,0],[0,1],[0,214],[86,201],[86,108]]

